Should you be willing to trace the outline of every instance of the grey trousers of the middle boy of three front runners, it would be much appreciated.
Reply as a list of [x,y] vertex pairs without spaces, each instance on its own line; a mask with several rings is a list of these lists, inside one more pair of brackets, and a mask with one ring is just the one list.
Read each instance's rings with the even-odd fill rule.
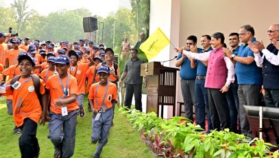
[[80,109],[71,111],[67,116],[55,114],[50,111],[48,138],[54,145],[55,155],[62,158],[72,157],[75,150],[75,127],[77,125],[77,113]]

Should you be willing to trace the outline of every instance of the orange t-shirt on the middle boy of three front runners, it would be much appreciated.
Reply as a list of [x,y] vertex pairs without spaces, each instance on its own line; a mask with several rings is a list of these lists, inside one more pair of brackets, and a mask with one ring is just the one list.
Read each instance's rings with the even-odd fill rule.
[[[66,88],[66,80],[67,77],[61,79],[64,88]],[[56,114],[61,114],[61,107],[57,107],[56,105],[54,105],[54,100],[58,98],[64,98],[64,92],[62,91],[62,86],[60,85],[59,75],[54,75],[49,77],[49,79],[47,79],[47,84],[45,88],[47,88],[47,90],[50,91],[50,96],[51,96],[50,110]],[[73,77],[72,75],[69,75],[68,88],[70,91],[69,92],[70,96],[71,94],[77,95],[77,79],[75,79],[75,77]],[[73,103],[67,104],[66,107],[68,112],[79,109],[77,100],[75,100]]]

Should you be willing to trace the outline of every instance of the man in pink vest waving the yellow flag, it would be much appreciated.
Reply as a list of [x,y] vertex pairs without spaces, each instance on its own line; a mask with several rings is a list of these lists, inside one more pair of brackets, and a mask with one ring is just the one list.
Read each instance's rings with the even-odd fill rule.
[[[226,92],[228,92],[230,83],[234,82],[234,64],[230,58],[223,55],[224,40],[225,37],[222,33],[213,34],[210,43],[214,49],[206,53],[192,53],[176,49],[187,57],[208,61],[205,87],[208,88],[208,105],[213,129],[217,131],[230,128],[230,109],[226,100]],[[191,48],[191,50],[194,49],[196,48]]]

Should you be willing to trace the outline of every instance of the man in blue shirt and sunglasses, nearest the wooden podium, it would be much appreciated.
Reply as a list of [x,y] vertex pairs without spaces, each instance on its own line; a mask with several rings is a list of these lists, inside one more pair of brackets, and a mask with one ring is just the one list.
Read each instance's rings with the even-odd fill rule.
[[[190,50],[190,46],[197,44],[196,36],[189,36],[186,40],[186,50]],[[175,62],[176,67],[180,67],[181,90],[184,100],[184,111],[186,118],[193,120],[193,105],[195,105],[195,78],[197,75],[197,63],[193,59],[189,59],[182,53],[178,54]],[[195,106],[196,109],[197,106]],[[195,110],[195,118],[197,120],[197,110]],[[197,121],[198,122],[198,121]],[[198,123],[197,123],[198,124]]]

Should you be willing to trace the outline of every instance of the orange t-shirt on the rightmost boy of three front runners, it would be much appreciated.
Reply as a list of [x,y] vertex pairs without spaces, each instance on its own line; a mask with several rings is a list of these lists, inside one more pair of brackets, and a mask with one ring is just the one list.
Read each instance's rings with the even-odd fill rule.
[[[101,102],[104,100],[107,85],[99,85],[98,88],[97,85],[99,85],[99,82],[91,85],[88,99],[93,100],[94,108],[99,110],[101,108]],[[97,103],[99,106],[97,105],[95,99],[97,99]],[[112,107],[111,101],[113,99],[117,99],[117,85],[108,81],[108,92],[104,100],[104,109],[109,109],[110,107]]]

